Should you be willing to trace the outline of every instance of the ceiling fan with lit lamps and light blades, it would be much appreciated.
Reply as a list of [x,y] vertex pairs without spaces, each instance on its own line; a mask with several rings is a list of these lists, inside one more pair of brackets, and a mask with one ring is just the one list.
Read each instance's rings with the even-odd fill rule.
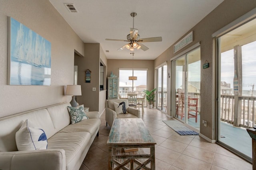
[[150,38],[142,38],[140,39],[140,35],[138,34],[138,29],[134,28],[134,17],[137,15],[135,12],[132,12],[130,14],[133,18],[133,25],[132,28],[130,28],[130,34],[127,35],[127,40],[123,39],[105,39],[110,41],[127,41],[128,44],[124,45],[118,51],[123,50],[124,48],[129,49],[130,51],[134,51],[135,48],[142,49],[143,51],[148,50],[149,48],[143,45],[142,43],[147,42],[157,42],[162,41],[162,37],[150,37]]

